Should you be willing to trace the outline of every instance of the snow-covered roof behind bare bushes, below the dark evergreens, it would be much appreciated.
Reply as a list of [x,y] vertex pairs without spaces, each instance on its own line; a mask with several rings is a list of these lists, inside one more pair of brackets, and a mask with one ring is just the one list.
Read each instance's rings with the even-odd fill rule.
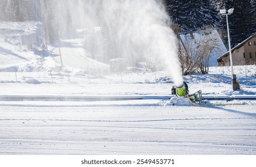
[[218,66],[218,57],[227,52],[227,48],[225,47],[216,29],[180,33],[179,37],[183,47],[185,47],[186,50],[191,51],[191,54],[196,54],[198,48],[200,45],[202,45],[202,42],[203,44],[210,42],[215,45],[212,52],[210,53],[209,66]]

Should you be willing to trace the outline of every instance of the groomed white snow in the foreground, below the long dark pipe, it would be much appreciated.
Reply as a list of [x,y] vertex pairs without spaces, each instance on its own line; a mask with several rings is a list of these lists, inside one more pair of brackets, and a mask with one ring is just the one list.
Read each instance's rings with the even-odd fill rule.
[[255,105],[158,102],[1,102],[0,154],[256,154]]

